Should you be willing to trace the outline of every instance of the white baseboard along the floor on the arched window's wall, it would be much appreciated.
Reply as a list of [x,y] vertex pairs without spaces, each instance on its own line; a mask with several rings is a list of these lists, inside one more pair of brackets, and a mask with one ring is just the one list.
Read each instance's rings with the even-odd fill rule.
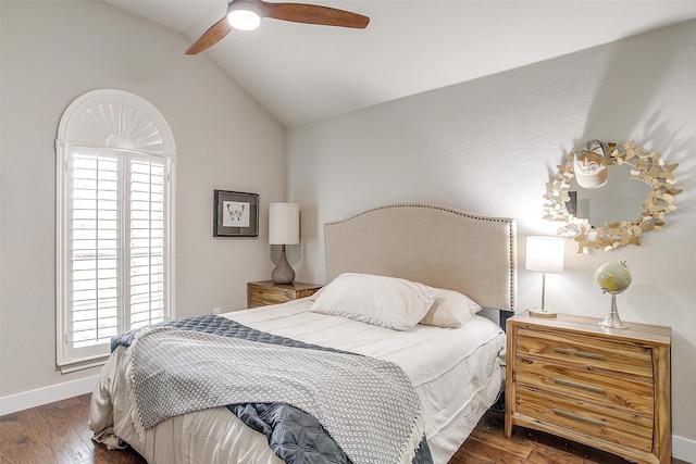
[[0,397],[0,416],[67,398],[91,393],[98,379],[99,376],[94,375],[64,384],[51,385],[49,387],[37,388],[36,390]]

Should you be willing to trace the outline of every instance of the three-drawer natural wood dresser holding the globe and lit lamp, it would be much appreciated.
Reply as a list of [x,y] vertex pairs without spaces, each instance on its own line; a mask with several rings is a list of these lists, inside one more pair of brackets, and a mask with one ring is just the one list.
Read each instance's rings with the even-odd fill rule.
[[529,312],[507,322],[505,434],[515,425],[641,464],[671,462],[669,327]]

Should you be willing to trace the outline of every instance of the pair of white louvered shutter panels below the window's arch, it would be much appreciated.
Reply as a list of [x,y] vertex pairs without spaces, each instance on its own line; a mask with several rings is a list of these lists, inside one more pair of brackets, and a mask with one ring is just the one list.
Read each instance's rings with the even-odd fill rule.
[[166,316],[164,161],[84,149],[70,156],[65,343],[72,359],[99,356],[111,337]]

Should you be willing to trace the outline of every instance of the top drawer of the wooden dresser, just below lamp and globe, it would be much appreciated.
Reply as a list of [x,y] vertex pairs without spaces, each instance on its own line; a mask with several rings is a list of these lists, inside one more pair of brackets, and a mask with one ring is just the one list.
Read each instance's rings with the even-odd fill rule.
[[534,355],[586,371],[652,378],[652,351],[598,338],[520,328],[518,355]]

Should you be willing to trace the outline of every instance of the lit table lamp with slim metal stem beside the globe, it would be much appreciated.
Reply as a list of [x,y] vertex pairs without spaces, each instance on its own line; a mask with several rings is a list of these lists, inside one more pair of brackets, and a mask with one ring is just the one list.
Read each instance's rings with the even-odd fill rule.
[[566,239],[562,237],[527,237],[525,268],[542,273],[542,308],[533,308],[530,314],[539,317],[556,317],[555,311],[546,309],[546,273],[563,272]]

